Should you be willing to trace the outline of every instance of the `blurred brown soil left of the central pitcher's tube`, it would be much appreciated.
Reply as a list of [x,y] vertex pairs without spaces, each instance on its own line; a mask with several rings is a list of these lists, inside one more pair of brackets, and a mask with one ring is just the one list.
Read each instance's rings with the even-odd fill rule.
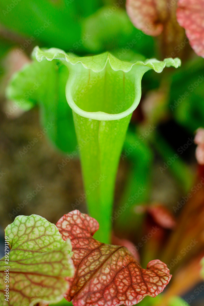
[[[0,224],[3,228],[13,222],[15,217],[9,214],[14,215],[13,209],[16,210],[24,200],[28,204],[18,215],[38,214],[56,223],[62,215],[73,209],[71,204],[83,193],[79,159],[70,160],[60,170],[58,164],[66,156],[53,147],[46,135],[39,139],[37,133],[40,130],[42,127],[39,125],[37,108],[18,118],[7,118],[5,111],[0,111],[0,172],[5,173],[0,178]],[[19,151],[23,151],[23,147],[35,137],[39,141],[20,156]],[[125,168],[125,163],[121,163],[116,201],[124,185]],[[44,187],[32,197],[29,193],[35,191],[38,184]],[[85,200],[77,208],[87,212]]]

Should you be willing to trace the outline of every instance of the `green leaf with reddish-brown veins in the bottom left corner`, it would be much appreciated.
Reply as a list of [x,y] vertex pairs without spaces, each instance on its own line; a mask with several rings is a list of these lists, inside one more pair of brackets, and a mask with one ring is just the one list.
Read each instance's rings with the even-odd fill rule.
[[16,217],[6,227],[5,237],[11,251],[0,260],[1,306],[47,305],[60,300],[69,288],[66,277],[74,273],[70,240],[63,241],[57,227],[38,215]]

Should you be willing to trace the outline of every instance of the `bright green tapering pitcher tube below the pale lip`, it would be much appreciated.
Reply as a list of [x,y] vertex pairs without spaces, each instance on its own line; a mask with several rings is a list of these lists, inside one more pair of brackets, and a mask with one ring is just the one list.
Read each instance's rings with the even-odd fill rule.
[[[99,221],[99,241],[110,240],[113,192],[121,149],[131,115],[115,121],[83,118],[73,113],[89,213]],[[84,140],[91,140],[83,145]],[[89,138],[88,138],[89,139]]]

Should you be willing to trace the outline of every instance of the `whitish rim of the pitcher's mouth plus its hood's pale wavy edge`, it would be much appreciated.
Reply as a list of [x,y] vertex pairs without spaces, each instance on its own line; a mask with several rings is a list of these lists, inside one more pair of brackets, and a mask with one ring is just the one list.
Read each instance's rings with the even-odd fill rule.
[[[51,52],[52,53],[54,51],[54,54],[52,56],[46,56],[46,55],[41,54],[42,51],[45,52],[45,53],[46,52]],[[78,63],[81,63],[82,66],[85,69],[91,69],[92,71],[94,71],[96,73],[101,72],[102,70],[104,70],[108,62],[109,62],[109,65],[111,66],[111,68],[114,71],[121,70],[121,71],[123,71],[125,73],[129,72],[132,69],[132,67],[135,66],[135,65],[146,67],[146,68],[148,68],[148,70],[149,69],[153,69],[157,73],[161,73],[163,71],[163,69],[165,68],[165,66],[167,66],[167,67],[172,66],[172,67],[178,68],[181,65],[181,61],[180,61],[179,58],[175,58],[175,59],[173,59],[173,58],[166,58],[166,59],[164,59],[164,61],[158,61],[157,59],[153,58],[153,59],[147,59],[145,62],[137,61],[135,63],[132,63],[132,65],[130,65],[128,68],[121,69],[121,67],[120,68],[117,67],[117,63],[116,63],[115,66],[111,63],[111,59],[110,59],[110,55],[111,54],[109,52],[106,52],[107,59],[106,59],[106,62],[104,64],[104,66],[102,68],[100,68],[100,69],[93,69],[91,67],[91,65],[84,64],[83,61],[81,61],[80,59],[79,59],[79,61],[77,61],[75,63],[72,63],[70,60],[72,60],[73,57],[69,57],[65,53],[65,51],[63,51],[61,49],[50,48],[50,49],[42,50],[42,51],[41,51],[41,49],[38,46],[36,46],[34,48],[34,50],[33,50],[33,56],[35,56],[35,58],[39,62],[41,62],[44,59],[46,59],[48,61],[52,61],[54,59],[58,59],[58,60],[62,60],[62,61],[66,60],[66,62],[70,63],[71,65],[76,65]],[[113,56],[113,55],[111,55],[111,56]],[[127,63],[127,62],[123,62],[123,61],[121,61],[119,59],[117,59],[117,61],[119,61],[119,63],[121,63],[121,65],[122,65],[122,63]],[[155,67],[154,63],[161,64],[161,67],[159,67],[159,68]],[[69,67],[68,67],[68,69],[69,69]],[[88,119],[93,119],[93,120],[99,120],[99,121],[101,121],[101,120],[102,121],[120,120],[120,119],[125,118],[128,115],[132,114],[132,112],[138,106],[138,104],[140,102],[140,99],[141,99],[141,79],[142,79],[143,74],[141,75],[141,78],[135,78],[135,99],[134,99],[132,105],[127,110],[125,110],[124,112],[121,112],[119,114],[108,114],[108,113],[101,112],[101,111],[98,111],[98,112],[87,112],[85,110],[82,110],[80,107],[78,107],[76,105],[76,103],[73,101],[72,94],[71,94],[71,91],[70,91],[70,88],[72,88],[72,85],[74,83],[74,78],[73,77],[72,78],[68,77],[67,84],[66,84],[65,95],[66,95],[67,102],[68,102],[69,106],[71,107],[71,109],[76,114],[78,114],[78,115],[80,115],[82,117],[85,117],[85,118],[88,118]]]

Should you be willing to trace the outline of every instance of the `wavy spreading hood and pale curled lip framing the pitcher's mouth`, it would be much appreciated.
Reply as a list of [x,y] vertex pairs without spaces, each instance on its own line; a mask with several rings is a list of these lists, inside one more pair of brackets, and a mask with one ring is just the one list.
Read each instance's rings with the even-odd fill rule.
[[[178,68],[181,65],[181,61],[179,58],[165,58],[163,62],[158,61],[157,59],[147,59],[146,61],[136,61],[135,63],[132,62],[125,62],[121,61],[118,58],[114,57],[109,52],[105,52],[103,54],[95,55],[95,56],[88,56],[88,57],[75,57],[73,54],[66,54],[65,51],[57,48],[50,48],[48,50],[40,49],[38,46],[35,47],[33,50],[33,56],[41,62],[42,60],[46,59],[48,61],[52,61],[53,59],[61,60],[65,65],[68,66],[69,70],[72,70],[71,76],[68,77],[67,85],[66,85],[66,98],[69,106],[72,110],[88,119],[94,120],[103,120],[103,121],[110,121],[110,120],[119,120],[121,118],[125,118],[128,115],[132,114],[132,112],[136,109],[139,104],[141,98],[141,79],[145,72],[150,69],[153,69],[157,73],[161,73],[163,69],[166,67],[175,67]],[[102,111],[98,112],[88,112],[84,111],[80,107],[76,105],[72,98],[71,89],[73,87],[73,83],[75,81],[75,76],[79,71],[72,67],[77,64],[81,64],[84,69],[91,69],[95,73],[102,72],[105,68],[107,63],[109,63],[111,69],[113,71],[123,71],[124,73],[128,73],[131,71],[133,67],[135,67],[135,76],[134,76],[134,83],[135,83],[135,99],[132,105],[125,111],[118,113],[118,114],[107,114]],[[83,71],[80,71],[83,74]],[[86,84],[85,84],[86,85]],[[84,85],[84,86],[85,86]]]

